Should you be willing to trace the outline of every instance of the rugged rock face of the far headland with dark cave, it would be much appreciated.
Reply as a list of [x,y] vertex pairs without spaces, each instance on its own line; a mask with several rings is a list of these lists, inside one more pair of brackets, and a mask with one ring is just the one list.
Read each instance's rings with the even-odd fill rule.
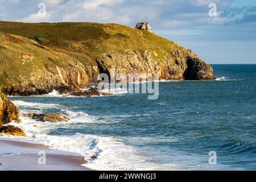
[[97,59],[97,64],[100,73],[108,76],[114,68],[116,77],[119,73],[158,73],[160,80],[214,80],[213,68],[209,64],[188,49],[176,49],[174,45],[162,61],[152,50],[126,50],[125,53],[104,54],[101,59]]

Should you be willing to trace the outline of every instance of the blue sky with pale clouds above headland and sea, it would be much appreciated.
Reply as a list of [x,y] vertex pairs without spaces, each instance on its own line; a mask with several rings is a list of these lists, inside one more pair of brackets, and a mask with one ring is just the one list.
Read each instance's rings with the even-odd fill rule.
[[0,20],[149,22],[210,64],[256,64],[256,0],[0,0]]

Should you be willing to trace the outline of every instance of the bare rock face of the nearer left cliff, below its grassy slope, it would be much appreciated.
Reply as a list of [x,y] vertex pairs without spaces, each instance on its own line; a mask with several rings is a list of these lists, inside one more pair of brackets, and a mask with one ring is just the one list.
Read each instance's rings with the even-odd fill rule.
[[57,90],[60,94],[78,92],[86,88],[89,82],[96,82],[97,66],[85,67],[81,63],[69,60],[69,67],[59,66],[31,71],[31,75],[19,85],[4,86],[2,91],[10,96],[36,96]]

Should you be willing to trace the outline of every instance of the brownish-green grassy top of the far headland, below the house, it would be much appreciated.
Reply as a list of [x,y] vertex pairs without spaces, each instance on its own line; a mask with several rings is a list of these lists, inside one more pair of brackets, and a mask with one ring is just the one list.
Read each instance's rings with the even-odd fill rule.
[[[153,49],[160,57],[173,42],[120,24],[0,22],[0,31],[35,40],[56,51],[76,55],[84,63],[109,51]],[[161,56],[162,55],[162,56]]]

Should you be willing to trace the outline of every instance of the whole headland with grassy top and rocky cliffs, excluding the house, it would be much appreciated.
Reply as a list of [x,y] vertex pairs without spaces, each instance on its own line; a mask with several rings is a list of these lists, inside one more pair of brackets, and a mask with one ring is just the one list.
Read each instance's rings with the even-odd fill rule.
[[0,22],[0,85],[7,94],[74,92],[112,68],[156,72],[164,80],[214,79],[200,57],[147,31],[118,24]]

